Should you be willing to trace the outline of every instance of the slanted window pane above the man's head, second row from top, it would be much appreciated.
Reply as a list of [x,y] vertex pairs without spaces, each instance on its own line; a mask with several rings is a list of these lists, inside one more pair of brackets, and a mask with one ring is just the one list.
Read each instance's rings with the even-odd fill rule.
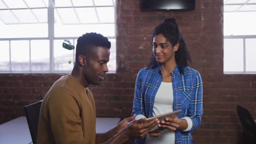
[[98,23],[95,8],[75,8],[82,23]]

